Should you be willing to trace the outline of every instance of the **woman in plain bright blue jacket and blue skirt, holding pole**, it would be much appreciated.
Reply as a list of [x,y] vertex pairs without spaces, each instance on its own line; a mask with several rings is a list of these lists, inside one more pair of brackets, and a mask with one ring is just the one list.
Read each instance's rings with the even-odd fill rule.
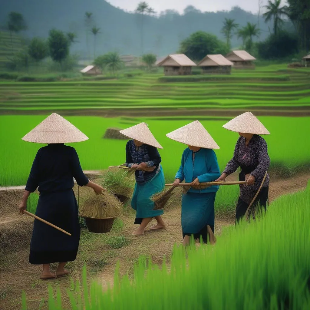
[[168,138],[188,145],[182,154],[181,166],[175,175],[175,185],[191,183],[187,193],[182,194],[181,224],[183,245],[202,237],[207,243],[209,225],[214,233],[214,202],[219,186],[199,189],[200,183],[219,178],[220,170],[213,149],[219,146],[199,121],[192,122],[166,135]]

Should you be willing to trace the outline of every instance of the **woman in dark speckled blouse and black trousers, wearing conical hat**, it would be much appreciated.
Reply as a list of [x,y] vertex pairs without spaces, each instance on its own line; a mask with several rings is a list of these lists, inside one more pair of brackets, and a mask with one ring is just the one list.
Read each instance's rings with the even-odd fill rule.
[[[269,131],[250,112],[243,113],[226,123],[224,128],[238,132],[240,137],[235,146],[232,159],[228,162],[222,175],[216,181],[225,181],[226,177],[241,167],[240,181],[246,181],[240,185],[240,196],[236,206],[236,223],[246,214],[251,201],[254,199],[263,178],[270,165],[267,143],[260,135],[269,135]],[[268,204],[269,176],[262,184],[259,194],[255,198],[251,208],[263,207],[266,211]]]

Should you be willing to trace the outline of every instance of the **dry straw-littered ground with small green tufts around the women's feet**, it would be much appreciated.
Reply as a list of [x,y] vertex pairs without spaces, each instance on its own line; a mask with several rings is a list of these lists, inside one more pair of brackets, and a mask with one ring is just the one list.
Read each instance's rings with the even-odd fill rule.
[[[308,178],[309,174],[305,174],[290,180],[271,182],[269,187],[271,200],[287,192],[304,188],[307,185]],[[6,236],[6,240],[0,237],[1,249],[3,242],[11,243],[11,245],[15,244],[15,246],[7,247],[5,252],[2,253],[0,261],[0,308],[3,310],[20,309],[21,291],[25,290],[28,310],[38,310],[40,304],[42,304],[42,310],[48,309],[46,302],[48,284],[54,288],[59,285],[62,293],[70,290],[74,296],[78,296],[82,292],[75,291],[71,286],[71,281],[82,280],[82,266],[84,264],[87,267],[87,280],[98,279],[104,284],[105,288],[108,282],[113,285],[113,273],[117,261],[120,261],[121,276],[127,273],[132,275],[134,262],[139,255],[151,255],[153,263],[160,265],[163,256],[171,254],[173,244],[175,242],[179,243],[182,239],[180,225],[181,188],[175,188],[175,191],[176,194],[170,198],[165,206],[163,219],[167,224],[166,229],[159,231],[146,230],[143,236],[132,236],[131,232],[136,228],[133,225],[134,213],[128,213],[126,216],[121,217],[123,226],[113,226],[112,231],[105,234],[94,234],[82,229],[77,259],[68,263],[67,266],[72,272],[71,276],[48,282],[38,279],[41,266],[30,265],[28,262],[33,219],[26,215],[18,215],[18,211],[15,210],[17,206],[14,203],[9,202],[8,204],[7,202],[4,204],[0,200],[0,210],[3,211],[4,205],[6,206],[6,218],[15,219],[15,221],[6,225],[0,225],[0,233]],[[77,185],[74,187],[74,192],[77,196]],[[14,197],[14,195],[8,193],[8,197]],[[2,194],[0,198],[5,197],[7,197],[6,194]],[[5,198],[5,200],[8,199]],[[0,221],[3,221],[2,215],[3,213]],[[233,224],[231,221],[219,220],[220,216],[223,215],[215,215],[216,236],[222,233],[223,227]],[[114,221],[114,223],[119,224],[118,221]],[[149,225],[155,224],[154,222],[155,220],[152,220]],[[20,233],[19,237],[14,237],[15,229],[18,230],[20,226],[23,229],[21,230],[22,233]],[[119,246],[122,247],[115,249],[115,247]],[[53,264],[52,270],[55,270],[55,267]],[[64,299],[63,307],[68,308],[68,304],[69,301]]]

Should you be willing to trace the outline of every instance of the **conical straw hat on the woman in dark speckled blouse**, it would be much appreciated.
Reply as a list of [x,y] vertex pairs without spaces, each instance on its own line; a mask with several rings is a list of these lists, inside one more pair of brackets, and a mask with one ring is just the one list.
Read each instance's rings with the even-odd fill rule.
[[251,112],[243,113],[223,125],[224,128],[254,135],[270,135],[270,132]]

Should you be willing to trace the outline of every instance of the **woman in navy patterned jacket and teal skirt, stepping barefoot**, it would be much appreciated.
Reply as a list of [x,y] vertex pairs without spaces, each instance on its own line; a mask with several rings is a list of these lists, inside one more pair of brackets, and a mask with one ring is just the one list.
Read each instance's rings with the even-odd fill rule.
[[152,230],[162,229],[166,224],[162,220],[163,210],[153,210],[154,202],[150,199],[165,187],[165,178],[161,166],[161,157],[157,148],[162,146],[152,135],[145,123],[121,130],[120,133],[131,138],[126,144],[126,166],[135,169],[135,190],[131,199],[131,207],[136,211],[134,224],[140,226],[133,235],[144,234],[148,223],[155,218],[157,224]]

